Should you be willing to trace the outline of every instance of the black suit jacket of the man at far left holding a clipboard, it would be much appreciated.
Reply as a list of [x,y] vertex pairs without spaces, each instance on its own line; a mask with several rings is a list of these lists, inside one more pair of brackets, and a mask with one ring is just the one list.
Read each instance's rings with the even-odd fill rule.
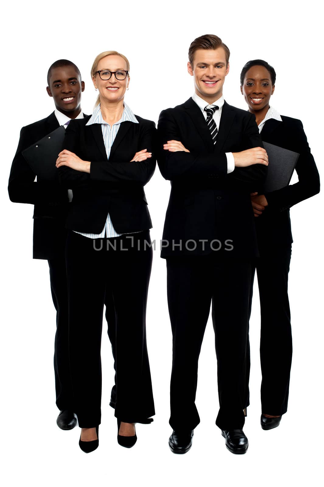
[[67,191],[62,191],[59,180],[56,182],[35,181],[36,174],[22,155],[37,140],[59,127],[51,113],[47,118],[22,127],[18,148],[12,162],[8,192],[15,203],[30,203],[34,206],[34,259],[53,259],[61,255],[65,245],[64,228],[68,205]]

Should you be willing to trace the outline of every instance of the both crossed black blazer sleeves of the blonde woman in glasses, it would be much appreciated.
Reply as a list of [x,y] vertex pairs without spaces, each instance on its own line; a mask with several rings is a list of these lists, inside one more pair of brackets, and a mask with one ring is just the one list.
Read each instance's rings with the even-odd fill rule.
[[[70,122],[66,134],[64,147],[78,155],[80,132],[75,124]],[[59,168],[60,180],[66,187],[88,186],[92,181],[108,183],[130,182],[144,186],[152,177],[155,170],[156,158],[154,146],[156,138],[155,123],[152,122],[143,127],[143,133],[138,143],[138,151],[147,149],[152,152],[152,157],[142,162],[120,161],[95,161],[90,164],[90,174],[76,171],[75,169],[61,166]],[[133,154],[134,156],[135,154]]]

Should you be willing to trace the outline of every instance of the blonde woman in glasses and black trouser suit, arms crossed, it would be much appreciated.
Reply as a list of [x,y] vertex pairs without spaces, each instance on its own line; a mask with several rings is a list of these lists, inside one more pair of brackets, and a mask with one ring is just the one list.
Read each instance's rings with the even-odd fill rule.
[[[92,116],[71,122],[56,166],[72,188],[66,247],[70,362],[79,446],[98,447],[101,420],[101,329],[109,283],[116,326],[108,332],[116,369],[118,443],[135,444],[135,423],[154,415],[145,313],[152,264],[150,215],[144,185],[155,169],[155,124],[124,102],[129,62],[116,51],[91,68],[99,91]],[[81,123],[79,123],[81,122]]]

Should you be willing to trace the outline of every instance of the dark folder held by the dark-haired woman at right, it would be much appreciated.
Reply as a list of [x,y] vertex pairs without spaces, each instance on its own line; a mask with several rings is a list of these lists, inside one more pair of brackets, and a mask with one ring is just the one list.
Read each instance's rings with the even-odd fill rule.
[[264,192],[270,193],[270,191],[288,186],[299,154],[292,150],[268,144],[268,142],[264,142],[263,147],[269,157],[268,175],[264,185]]

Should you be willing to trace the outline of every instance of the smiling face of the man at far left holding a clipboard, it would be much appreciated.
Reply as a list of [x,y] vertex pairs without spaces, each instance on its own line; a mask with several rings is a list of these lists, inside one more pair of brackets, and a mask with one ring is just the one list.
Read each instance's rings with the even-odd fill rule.
[[54,104],[59,112],[70,118],[77,116],[80,111],[81,93],[84,82],[73,66],[62,66],[51,71],[50,85],[47,93],[54,98]]

